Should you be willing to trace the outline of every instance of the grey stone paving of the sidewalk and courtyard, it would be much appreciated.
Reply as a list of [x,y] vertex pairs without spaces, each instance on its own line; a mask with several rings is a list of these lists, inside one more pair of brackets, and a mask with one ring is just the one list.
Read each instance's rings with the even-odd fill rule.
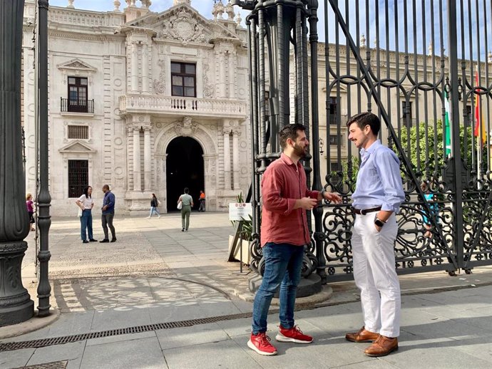
[[[369,358],[367,344],[344,340],[362,325],[357,289],[344,282],[330,284],[329,300],[296,313],[302,330],[314,336],[311,345],[276,343],[272,313],[270,336],[279,355],[262,357],[246,345],[252,303],[236,296],[247,297],[247,273],[225,261],[233,232],[227,214],[193,213],[189,232],[180,232],[178,214],[116,218],[115,226],[116,243],[82,244],[78,219],[53,219],[51,303],[61,314],[49,326],[1,340],[0,368],[492,367],[492,267],[455,277],[401,276],[397,353]],[[96,219],[94,229],[102,239]],[[34,270],[30,247],[23,278],[36,306]],[[45,338],[68,343],[36,341]],[[5,350],[5,343],[17,346]]]

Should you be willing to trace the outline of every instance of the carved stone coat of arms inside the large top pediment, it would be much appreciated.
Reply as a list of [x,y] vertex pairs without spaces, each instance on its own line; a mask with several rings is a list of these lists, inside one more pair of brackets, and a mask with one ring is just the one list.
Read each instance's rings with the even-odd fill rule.
[[180,40],[183,41],[183,44],[187,44],[190,41],[206,42],[203,30],[204,27],[192,14],[185,10],[180,10],[177,14],[170,16],[168,21],[163,24],[158,36]]

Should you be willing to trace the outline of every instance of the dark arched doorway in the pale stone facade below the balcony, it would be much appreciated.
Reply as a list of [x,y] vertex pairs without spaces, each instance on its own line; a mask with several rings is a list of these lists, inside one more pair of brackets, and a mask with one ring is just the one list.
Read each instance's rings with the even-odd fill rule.
[[198,209],[200,189],[205,189],[202,147],[191,137],[176,137],[169,142],[166,154],[168,212],[176,209],[178,197],[185,187],[190,189],[195,209]]

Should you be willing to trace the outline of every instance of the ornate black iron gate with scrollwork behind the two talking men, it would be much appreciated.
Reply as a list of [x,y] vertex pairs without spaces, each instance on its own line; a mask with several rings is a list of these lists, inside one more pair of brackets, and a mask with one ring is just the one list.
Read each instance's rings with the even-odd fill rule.
[[[399,273],[468,273],[492,264],[490,1],[324,0],[320,9],[317,0],[235,4],[251,10],[256,233],[260,176],[278,157],[277,132],[293,121],[309,125],[312,157],[304,166],[312,188],[339,192],[344,203],[314,209],[304,274],[316,270],[324,282],[352,278],[350,194],[359,154],[347,141],[346,123],[371,110],[386,127],[382,142],[400,157],[406,190],[394,248]],[[257,239],[252,267],[261,274]]]

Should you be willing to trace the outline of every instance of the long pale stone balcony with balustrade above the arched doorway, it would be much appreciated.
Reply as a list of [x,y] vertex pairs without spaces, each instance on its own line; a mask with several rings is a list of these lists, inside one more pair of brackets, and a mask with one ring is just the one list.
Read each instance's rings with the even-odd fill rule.
[[165,97],[160,95],[122,95],[121,114],[146,113],[160,116],[189,115],[211,118],[245,119],[246,103],[237,100]]

